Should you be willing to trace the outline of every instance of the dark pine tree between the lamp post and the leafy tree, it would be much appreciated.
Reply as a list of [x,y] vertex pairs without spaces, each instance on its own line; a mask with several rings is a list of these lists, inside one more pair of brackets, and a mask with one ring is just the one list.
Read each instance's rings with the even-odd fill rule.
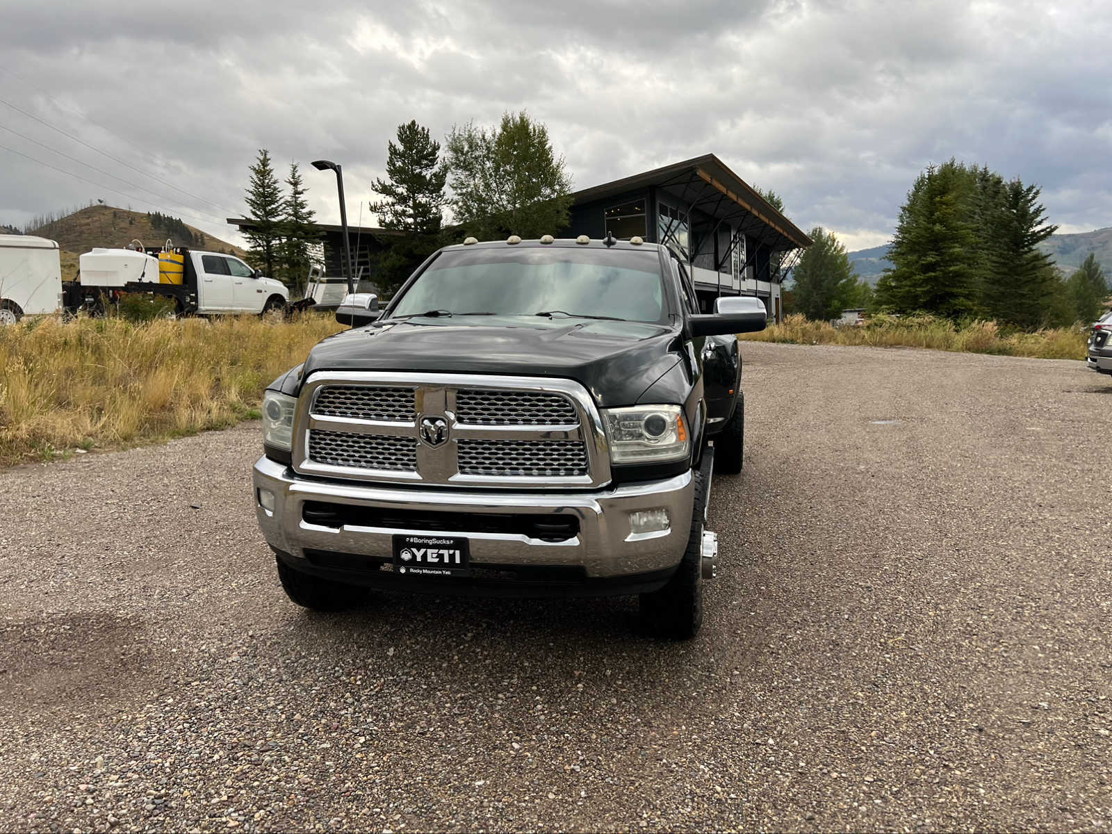
[[393,292],[425,258],[441,245],[440,225],[445,203],[447,170],[440,163],[440,143],[428,128],[411,120],[398,126],[397,143],[387,147],[386,173],[376,179],[371,191],[383,199],[371,202],[383,228],[406,232],[393,238],[378,261],[380,289]]

